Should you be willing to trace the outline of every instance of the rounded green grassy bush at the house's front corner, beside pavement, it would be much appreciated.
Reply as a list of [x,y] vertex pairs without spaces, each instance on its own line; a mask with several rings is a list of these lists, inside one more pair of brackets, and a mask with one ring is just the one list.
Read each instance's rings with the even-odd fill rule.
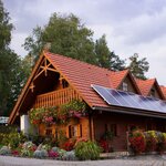
[[75,156],[80,160],[100,158],[101,148],[95,142],[79,142],[75,146]]

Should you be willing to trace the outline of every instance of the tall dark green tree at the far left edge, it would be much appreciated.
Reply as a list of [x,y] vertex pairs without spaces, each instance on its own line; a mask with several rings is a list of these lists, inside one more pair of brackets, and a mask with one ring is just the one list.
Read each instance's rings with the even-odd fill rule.
[[9,115],[24,77],[21,59],[9,48],[12,29],[0,0],[0,115]]

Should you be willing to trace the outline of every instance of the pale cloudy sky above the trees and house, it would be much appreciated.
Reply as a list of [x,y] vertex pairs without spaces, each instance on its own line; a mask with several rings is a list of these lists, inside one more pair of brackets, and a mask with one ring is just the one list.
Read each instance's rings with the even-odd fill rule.
[[94,31],[106,34],[111,51],[127,59],[134,53],[149,62],[147,77],[166,85],[166,0],[2,0],[14,24],[11,49],[27,54],[22,44],[53,12],[74,13]]

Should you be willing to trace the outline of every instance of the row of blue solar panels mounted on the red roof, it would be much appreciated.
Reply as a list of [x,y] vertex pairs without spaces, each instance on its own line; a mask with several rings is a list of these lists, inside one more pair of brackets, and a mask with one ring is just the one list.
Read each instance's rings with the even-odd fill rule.
[[166,113],[166,102],[129,92],[91,85],[110,105]]

